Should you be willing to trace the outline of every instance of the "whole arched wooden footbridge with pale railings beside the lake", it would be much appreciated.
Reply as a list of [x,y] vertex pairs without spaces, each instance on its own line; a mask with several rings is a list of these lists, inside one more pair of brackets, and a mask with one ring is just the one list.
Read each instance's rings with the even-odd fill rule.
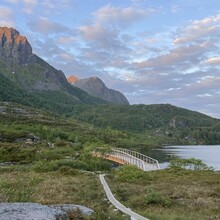
[[111,151],[107,153],[99,153],[95,151],[93,152],[93,155],[119,164],[132,164],[143,171],[160,169],[157,160],[132,150],[112,148]]

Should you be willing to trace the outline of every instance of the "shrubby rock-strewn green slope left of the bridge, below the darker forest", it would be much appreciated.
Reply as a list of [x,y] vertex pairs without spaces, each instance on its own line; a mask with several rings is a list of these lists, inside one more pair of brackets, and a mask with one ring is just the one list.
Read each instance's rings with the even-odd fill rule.
[[[26,163],[43,158],[49,162],[65,159],[70,152],[80,154],[93,147],[135,148],[136,145],[149,147],[147,141],[140,141],[128,132],[94,128],[49,111],[0,102],[0,162]],[[76,166],[79,163],[79,166],[84,164],[85,169],[93,169],[86,158],[81,159],[76,161]]]

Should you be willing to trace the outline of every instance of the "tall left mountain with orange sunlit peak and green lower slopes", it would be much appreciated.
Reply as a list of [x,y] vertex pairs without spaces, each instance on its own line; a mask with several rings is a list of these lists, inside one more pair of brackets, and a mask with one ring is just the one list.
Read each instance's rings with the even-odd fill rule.
[[[32,53],[32,47],[25,36],[14,28],[0,27],[0,82],[2,93],[0,100],[5,100],[5,95],[9,100],[15,102],[25,102],[16,92],[9,88],[19,90],[23,98],[30,97],[41,106],[50,105],[53,109],[57,105],[71,107],[73,104],[100,104],[106,103],[88,95],[83,90],[71,86],[61,70],[55,69],[40,57]],[[22,91],[22,92],[21,92]],[[29,105],[38,107],[36,102],[28,102]]]

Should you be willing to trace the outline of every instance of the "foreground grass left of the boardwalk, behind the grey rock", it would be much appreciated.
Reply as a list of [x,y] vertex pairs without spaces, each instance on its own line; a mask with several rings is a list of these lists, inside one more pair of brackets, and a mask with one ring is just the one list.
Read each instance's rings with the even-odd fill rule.
[[6,168],[0,171],[0,202],[77,204],[92,208],[95,211],[92,219],[128,219],[106,201],[94,173],[64,168],[47,173],[6,171]]

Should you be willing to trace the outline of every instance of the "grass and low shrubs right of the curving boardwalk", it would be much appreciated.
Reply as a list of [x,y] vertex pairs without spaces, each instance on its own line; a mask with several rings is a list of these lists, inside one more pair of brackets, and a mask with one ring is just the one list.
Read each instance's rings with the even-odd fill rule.
[[[219,174],[184,169],[144,173],[135,169],[123,167],[108,176],[113,193],[125,206],[152,220],[220,219]],[[132,180],[132,173],[138,178]]]

